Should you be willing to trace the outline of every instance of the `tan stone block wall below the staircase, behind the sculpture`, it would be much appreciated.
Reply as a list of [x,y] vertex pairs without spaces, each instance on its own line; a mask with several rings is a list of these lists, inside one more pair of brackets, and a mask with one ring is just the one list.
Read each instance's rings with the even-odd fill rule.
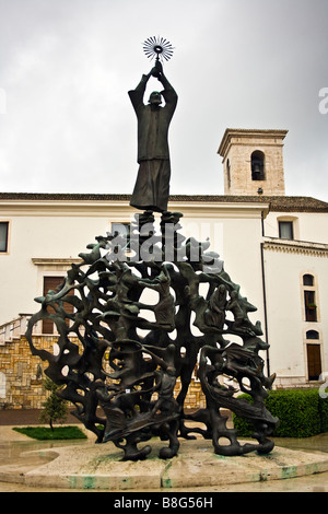
[[[33,338],[37,348],[51,352],[56,341],[56,336],[34,336]],[[105,359],[104,362],[106,366],[108,360]],[[0,346],[0,409],[42,409],[48,395],[43,386],[44,370],[47,365],[47,362],[32,355],[24,337]],[[178,381],[176,394],[179,389]],[[191,381],[185,406],[188,409],[204,407],[204,395],[196,378]]]

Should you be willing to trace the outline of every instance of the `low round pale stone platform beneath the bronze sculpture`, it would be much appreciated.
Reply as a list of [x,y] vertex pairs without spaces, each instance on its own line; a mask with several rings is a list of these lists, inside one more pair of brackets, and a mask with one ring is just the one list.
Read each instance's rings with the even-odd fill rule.
[[[181,441],[178,456],[159,458],[164,443],[152,440],[145,460],[124,462],[112,443],[58,446],[26,453],[23,465],[0,466],[0,481],[71,490],[166,490],[283,480],[328,471],[328,454],[274,447],[223,457],[211,441]],[[31,458],[30,458],[31,457]],[[37,458],[38,459],[37,459]],[[32,460],[33,459],[33,460]],[[45,463],[45,464],[43,464]]]

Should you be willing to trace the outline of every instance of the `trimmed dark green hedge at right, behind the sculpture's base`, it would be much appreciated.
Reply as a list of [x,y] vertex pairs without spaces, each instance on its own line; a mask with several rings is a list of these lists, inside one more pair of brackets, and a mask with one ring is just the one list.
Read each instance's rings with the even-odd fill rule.
[[[241,397],[253,401],[249,395]],[[278,437],[308,437],[328,430],[328,401],[316,388],[270,390],[265,404],[280,420],[273,434]],[[250,436],[254,432],[251,423],[235,414],[233,421],[239,435]]]

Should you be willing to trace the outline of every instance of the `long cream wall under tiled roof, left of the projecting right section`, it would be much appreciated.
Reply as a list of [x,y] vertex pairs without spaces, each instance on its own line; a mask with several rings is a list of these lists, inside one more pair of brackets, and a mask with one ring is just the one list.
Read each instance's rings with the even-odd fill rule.
[[[248,262],[260,266],[257,248],[262,212],[266,214],[269,206],[230,202],[226,198],[220,202],[216,197],[184,198],[175,197],[169,202],[171,210],[184,213],[184,234],[199,241],[209,237],[212,249],[229,262],[234,280],[244,282],[249,297],[260,304],[260,278],[249,280]],[[44,277],[63,277],[71,262],[79,260],[79,253],[95,243],[95,236],[106,235],[112,223],[130,222],[134,213],[128,198],[119,196],[91,200],[87,195],[4,195],[4,198],[2,195],[0,222],[9,221],[10,230],[8,253],[0,254],[1,296],[7,296],[0,324],[19,313],[38,309],[34,297],[43,295]],[[232,234],[234,245],[231,245]],[[247,243],[250,237],[256,245]],[[241,253],[246,256],[243,262],[239,262]]]

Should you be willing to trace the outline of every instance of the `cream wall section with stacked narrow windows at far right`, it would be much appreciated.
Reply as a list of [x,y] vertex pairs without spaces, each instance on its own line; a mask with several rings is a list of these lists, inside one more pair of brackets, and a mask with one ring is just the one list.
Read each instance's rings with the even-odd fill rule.
[[[263,255],[270,366],[278,375],[276,385],[300,386],[313,382],[308,350],[314,346],[318,347],[324,378],[328,371],[328,245],[283,243],[266,237]],[[313,277],[313,285],[304,285],[305,276]],[[309,320],[305,291],[315,296],[316,316]]]

